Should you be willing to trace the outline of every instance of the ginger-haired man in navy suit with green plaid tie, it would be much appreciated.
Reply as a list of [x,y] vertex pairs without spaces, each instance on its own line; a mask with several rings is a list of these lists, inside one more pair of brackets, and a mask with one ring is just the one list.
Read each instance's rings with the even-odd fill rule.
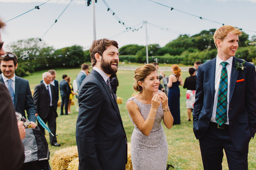
[[198,66],[193,130],[204,169],[248,169],[249,142],[256,132],[256,73],[235,58],[241,31],[224,25],[214,33],[218,54]]

